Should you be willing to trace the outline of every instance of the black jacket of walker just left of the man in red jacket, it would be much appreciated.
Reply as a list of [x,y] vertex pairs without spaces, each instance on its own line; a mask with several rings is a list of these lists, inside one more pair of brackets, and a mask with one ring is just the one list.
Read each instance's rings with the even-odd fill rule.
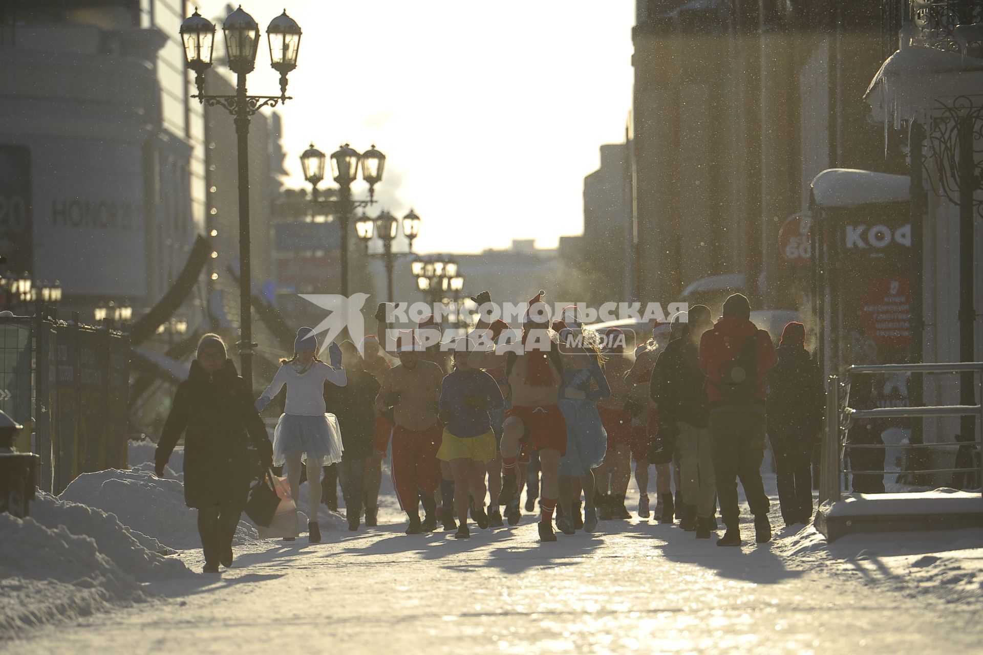
[[670,341],[652,371],[649,390],[659,406],[659,422],[673,425],[685,421],[707,427],[707,376],[700,369],[700,348],[690,343],[689,326],[682,336]]

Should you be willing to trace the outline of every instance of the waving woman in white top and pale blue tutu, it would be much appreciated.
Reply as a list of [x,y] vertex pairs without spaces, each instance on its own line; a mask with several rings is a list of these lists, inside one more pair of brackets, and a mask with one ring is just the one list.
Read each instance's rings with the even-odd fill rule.
[[324,407],[324,382],[339,387],[348,384],[341,365],[341,349],[331,344],[327,349],[329,364],[318,359],[318,337],[314,330],[302,327],[294,340],[294,356],[280,359],[280,369],[256,402],[260,411],[269,404],[283,385],[287,385],[287,405],[273,432],[273,464],[283,464],[290,493],[297,499],[300,490],[301,463],[307,463],[311,521],[308,538],[320,541],[318,508],[320,507],[321,466],[341,462],[341,429],[334,414]]

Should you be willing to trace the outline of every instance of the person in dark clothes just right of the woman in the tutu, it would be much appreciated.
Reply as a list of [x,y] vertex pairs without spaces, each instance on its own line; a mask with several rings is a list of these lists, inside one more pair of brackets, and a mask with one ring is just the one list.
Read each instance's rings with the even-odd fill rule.
[[[338,417],[341,427],[341,488],[345,498],[345,514],[348,529],[359,529],[362,517],[362,499],[365,495],[365,464],[373,454],[373,438],[376,435],[376,396],[379,384],[376,376],[366,370],[365,360],[355,344],[341,343],[341,363],[348,371],[348,384],[344,387],[324,385],[324,405]],[[324,482],[335,484],[334,480]],[[368,519],[375,517],[367,517]]]

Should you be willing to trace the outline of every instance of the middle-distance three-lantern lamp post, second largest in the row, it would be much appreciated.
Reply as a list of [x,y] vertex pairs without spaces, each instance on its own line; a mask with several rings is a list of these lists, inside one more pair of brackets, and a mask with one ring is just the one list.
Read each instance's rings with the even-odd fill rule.
[[[324,179],[324,169],[327,155],[311,144],[311,147],[301,155],[301,167],[304,169],[304,179],[312,189],[313,206],[322,204],[318,200],[318,184]],[[338,218],[338,229],[341,236],[341,295],[348,296],[348,228],[351,225],[352,213],[355,207],[367,207],[376,202],[376,185],[382,181],[385,170],[385,155],[376,150],[375,143],[365,152],[359,151],[345,143],[331,153],[331,178],[338,184],[338,199],[331,201],[331,213]],[[369,185],[369,199],[353,200],[352,183],[362,179]],[[359,235],[361,237],[361,234]]]

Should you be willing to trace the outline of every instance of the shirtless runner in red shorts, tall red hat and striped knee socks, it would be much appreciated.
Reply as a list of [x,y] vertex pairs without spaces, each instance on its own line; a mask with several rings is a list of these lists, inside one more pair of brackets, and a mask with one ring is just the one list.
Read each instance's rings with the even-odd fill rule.
[[559,498],[559,459],[566,453],[566,421],[556,406],[563,364],[549,334],[549,307],[541,291],[529,302],[523,319],[522,352],[478,351],[472,365],[506,366],[512,408],[505,412],[501,437],[502,489],[499,505],[509,505],[519,490],[516,464],[523,451],[535,448],[543,469],[540,541],[556,541],[553,511]]

